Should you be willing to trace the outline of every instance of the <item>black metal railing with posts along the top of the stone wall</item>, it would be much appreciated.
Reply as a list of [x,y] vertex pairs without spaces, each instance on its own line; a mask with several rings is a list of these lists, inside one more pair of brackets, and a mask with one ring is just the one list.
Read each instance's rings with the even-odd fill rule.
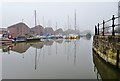
[[[111,31],[111,32],[112,32],[112,36],[115,36],[115,27],[120,26],[119,23],[118,23],[118,24],[115,24],[115,20],[118,19],[118,18],[120,18],[120,16],[115,17],[115,16],[113,15],[111,19],[109,19],[109,20],[107,20],[107,21],[103,20],[102,23],[98,23],[97,25],[95,25],[95,35],[100,35],[100,34],[102,34],[102,35],[104,36],[104,35],[105,35],[105,29],[106,29],[106,28],[112,28],[112,31]],[[112,25],[110,25],[110,26],[105,26],[105,24],[108,23],[108,22],[111,22]],[[102,27],[100,28],[101,25],[102,25]],[[102,33],[100,33],[100,30],[101,30]]]

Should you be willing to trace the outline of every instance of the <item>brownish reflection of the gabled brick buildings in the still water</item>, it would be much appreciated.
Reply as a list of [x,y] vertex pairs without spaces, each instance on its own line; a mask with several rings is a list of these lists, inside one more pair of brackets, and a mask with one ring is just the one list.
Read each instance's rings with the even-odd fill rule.
[[15,43],[11,45],[5,45],[2,46],[2,52],[8,52],[10,54],[10,51],[14,51],[17,53],[24,53],[26,52],[30,47],[41,49],[43,46],[51,46],[54,41],[52,40],[46,40],[44,42],[21,42],[21,43]]

